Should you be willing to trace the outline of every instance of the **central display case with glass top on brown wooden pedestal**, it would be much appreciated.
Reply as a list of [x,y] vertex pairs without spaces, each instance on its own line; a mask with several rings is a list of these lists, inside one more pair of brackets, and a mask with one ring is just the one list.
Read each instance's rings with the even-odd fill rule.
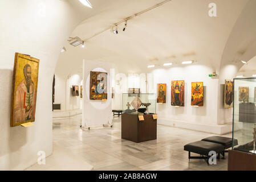
[[121,138],[137,143],[157,138],[156,94],[123,94]]

